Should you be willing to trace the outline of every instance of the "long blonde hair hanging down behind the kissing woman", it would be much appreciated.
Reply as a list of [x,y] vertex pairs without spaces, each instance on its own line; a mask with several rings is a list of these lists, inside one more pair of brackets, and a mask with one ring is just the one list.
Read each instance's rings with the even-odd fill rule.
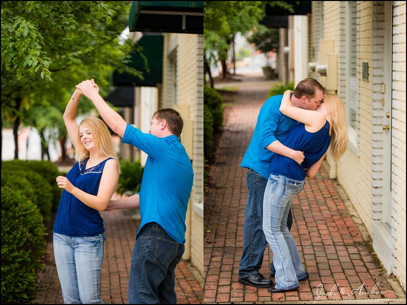
[[344,154],[347,147],[345,107],[339,96],[332,93],[325,93],[324,103],[332,121],[331,155],[337,161]]

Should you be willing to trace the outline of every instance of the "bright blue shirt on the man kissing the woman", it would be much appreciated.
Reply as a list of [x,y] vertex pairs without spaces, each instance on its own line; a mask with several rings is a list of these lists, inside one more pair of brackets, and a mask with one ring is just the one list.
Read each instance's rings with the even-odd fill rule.
[[283,95],[271,96],[261,107],[253,137],[240,164],[242,167],[251,168],[267,180],[270,177],[270,161],[274,153],[266,147],[276,140],[281,142],[288,130],[297,123],[280,112],[282,98]]

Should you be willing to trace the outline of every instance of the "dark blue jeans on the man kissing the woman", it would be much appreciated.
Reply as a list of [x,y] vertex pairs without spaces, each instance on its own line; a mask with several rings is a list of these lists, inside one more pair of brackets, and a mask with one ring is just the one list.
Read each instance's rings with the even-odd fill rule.
[[[266,236],[263,232],[263,199],[266,190],[267,179],[248,169],[246,183],[249,193],[247,195],[245,223],[243,226],[243,254],[239,264],[239,278],[259,273],[263,263],[264,250],[267,247]],[[291,210],[287,219],[288,230],[293,226]],[[273,262],[270,264],[270,272],[275,274]]]

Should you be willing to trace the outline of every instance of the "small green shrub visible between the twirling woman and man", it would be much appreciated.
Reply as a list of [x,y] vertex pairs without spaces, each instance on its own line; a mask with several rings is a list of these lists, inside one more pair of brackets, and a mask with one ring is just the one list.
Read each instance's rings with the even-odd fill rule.
[[120,160],[121,173],[117,192],[121,195],[131,190],[137,193],[140,190],[141,179],[143,178],[144,167],[141,166],[140,160],[129,162]]

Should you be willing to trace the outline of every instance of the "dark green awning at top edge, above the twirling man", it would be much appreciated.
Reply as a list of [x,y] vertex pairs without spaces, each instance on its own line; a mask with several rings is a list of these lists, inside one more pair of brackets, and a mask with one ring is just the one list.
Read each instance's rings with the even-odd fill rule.
[[203,34],[203,1],[133,1],[129,29]]

